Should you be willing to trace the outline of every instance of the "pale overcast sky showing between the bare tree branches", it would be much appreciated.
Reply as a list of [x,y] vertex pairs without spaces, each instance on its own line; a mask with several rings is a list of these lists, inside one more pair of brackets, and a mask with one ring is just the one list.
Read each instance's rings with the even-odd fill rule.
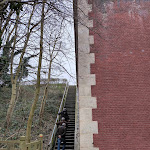
[[[72,11],[70,13],[70,16],[73,14],[73,8],[72,8],[72,1],[70,1],[70,4],[67,3],[66,6]],[[28,9],[28,11],[30,11],[30,9]],[[41,10],[38,10],[39,12]],[[28,13],[26,15],[24,15],[24,20],[22,20],[23,22],[28,22],[29,19],[29,15]],[[35,22],[37,22],[38,19],[40,19],[40,17],[34,17],[33,18],[35,20]],[[53,24],[53,22],[50,21],[50,19],[48,20],[49,25],[51,25],[51,23]],[[21,26],[19,29],[19,33],[23,33],[23,27]],[[25,28],[25,27],[24,27]],[[18,30],[19,30],[18,29]],[[52,29],[52,28],[51,28]],[[48,33],[53,33],[51,31],[51,29],[49,29]],[[26,29],[24,29],[24,31],[26,31]],[[63,29],[63,44],[65,44],[64,46],[64,52],[65,52],[65,56],[59,56],[58,59],[60,59],[62,61],[62,65],[63,67],[67,70],[65,71],[64,69],[61,69],[61,72],[57,71],[57,68],[53,69],[55,71],[52,72],[52,77],[53,78],[65,78],[68,80],[70,85],[75,85],[76,84],[76,64],[75,64],[75,41],[74,41],[74,24],[73,24],[73,19],[70,19],[68,22],[65,21],[65,29]],[[40,33],[40,32],[39,32]],[[30,55],[33,54],[37,54],[39,52],[39,37],[40,34],[38,32],[36,34],[32,34],[31,37],[31,41],[29,43],[29,47],[27,48],[26,52],[29,54],[25,54],[25,57],[29,57]],[[21,34],[18,34],[21,36]],[[37,36],[37,37],[36,37]],[[24,41],[20,40],[20,43],[18,43],[18,49],[20,49],[20,47],[22,47],[24,45]],[[65,49],[66,48],[66,49]],[[46,56],[46,55],[45,55]],[[46,56],[49,57],[49,56]],[[15,60],[14,60],[14,71],[15,68],[17,66],[17,64],[19,63],[20,60],[20,54],[15,56]],[[48,68],[48,64],[49,62],[43,60],[43,68],[46,66]],[[47,63],[47,64],[46,64]],[[38,56],[35,58],[32,58],[29,62],[29,64],[33,67],[35,67],[35,69],[29,69],[30,72],[29,76],[25,79],[23,79],[23,81],[27,81],[30,82],[32,80],[36,79],[36,73],[37,73],[37,66],[38,66]],[[47,75],[48,75],[48,70],[44,70],[46,73],[41,72],[41,78],[42,79],[46,79]]]

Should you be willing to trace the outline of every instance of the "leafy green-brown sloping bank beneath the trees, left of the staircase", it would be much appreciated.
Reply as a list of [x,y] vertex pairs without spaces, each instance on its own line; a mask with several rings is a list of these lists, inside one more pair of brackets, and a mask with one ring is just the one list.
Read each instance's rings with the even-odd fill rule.
[[[48,144],[51,131],[55,123],[55,119],[58,113],[60,102],[65,89],[64,84],[49,85],[48,96],[46,100],[44,116],[42,126],[39,126],[39,111],[41,106],[41,100],[43,98],[45,85],[41,85],[40,97],[36,106],[33,124],[32,124],[32,140],[35,140],[39,134],[44,135],[44,144]],[[3,139],[18,139],[20,136],[25,135],[27,120],[30,112],[30,108],[34,99],[34,85],[22,85],[20,87],[19,98],[16,102],[16,106],[11,118],[11,124],[9,130],[6,132],[4,123],[6,119],[7,109],[11,97],[11,88],[4,87],[0,91],[0,137]]]

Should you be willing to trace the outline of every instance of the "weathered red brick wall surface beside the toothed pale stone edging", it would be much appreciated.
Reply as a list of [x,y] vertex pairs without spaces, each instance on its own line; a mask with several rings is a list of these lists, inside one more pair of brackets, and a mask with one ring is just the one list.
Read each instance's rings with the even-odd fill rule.
[[150,150],[150,1],[93,0],[91,53],[100,150]]

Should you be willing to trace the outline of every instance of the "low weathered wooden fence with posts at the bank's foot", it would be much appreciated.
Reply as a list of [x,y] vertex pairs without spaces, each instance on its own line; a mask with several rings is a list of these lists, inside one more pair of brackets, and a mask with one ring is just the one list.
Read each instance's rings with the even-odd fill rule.
[[38,140],[26,143],[26,137],[21,136],[20,140],[0,141],[0,150],[43,150],[43,135]]

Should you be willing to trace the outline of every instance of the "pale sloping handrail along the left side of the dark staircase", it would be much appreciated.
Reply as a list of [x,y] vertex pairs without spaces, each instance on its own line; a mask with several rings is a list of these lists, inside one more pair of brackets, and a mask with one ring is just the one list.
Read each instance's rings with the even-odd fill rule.
[[[69,84],[68,82],[66,83],[66,87],[65,87],[65,91],[64,91],[64,94],[63,94],[63,98],[61,100],[61,104],[60,104],[60,107],[59,107],[59,111],[58,112],[61,112],[64,105],[65,105],[65,102],[66,102],[66,97],[67,97],[67,93],[68,93],[68,88],[69,88]],[[48,144],[48,147],[47,149],[48,150],[52,150],[54,145],[55,145],[55,141],[56,141],[56,132],[57,132],[57,125],[56,123],[60,120],[60,115],[57,115],[57,118],[56,118],[56,121],[55,121],[55,125],[54,125],[54,129],[53,129],[53,132],[52,132],[52,136],[51,136],[51,139],[50,139],[50,142]]]

